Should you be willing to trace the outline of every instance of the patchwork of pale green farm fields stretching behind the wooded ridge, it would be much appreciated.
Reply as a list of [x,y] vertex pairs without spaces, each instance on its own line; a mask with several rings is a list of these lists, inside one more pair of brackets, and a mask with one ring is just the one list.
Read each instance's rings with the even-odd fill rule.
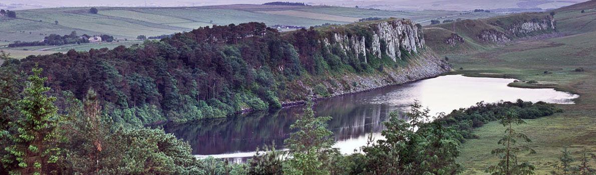
[[[98,14],[88,8],[45,8],[17,11],[17,18],[0,17],[0,40],[35,41],[49,34],[109,34],[116,39],[138,35],[159,36],[194,28],[257,21],[269,26],[317,26],[324,23],[347,24],[368,17],[409,18],[423,24],[431,19],[474,18],[458,11],[386,11],[323,6],[220,5],[209,7],[99,7]],[[498,14],[493,14],[498,15]],[[478,15],[485,17],[485,14]],[[57,23],[56,23],[57,22]]]

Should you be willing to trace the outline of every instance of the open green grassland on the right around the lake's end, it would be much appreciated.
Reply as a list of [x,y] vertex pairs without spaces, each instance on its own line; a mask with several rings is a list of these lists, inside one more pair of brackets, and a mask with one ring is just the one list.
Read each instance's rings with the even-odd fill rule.
[[[582,7],[593,11],[596,6],[584,4]],[[570,36],[520,41],[479,53],[447,55],[455,68],[464,68],[454,74],[552,82],[554,84],[548,86],[581,95],[576,104],[560,105],[566,112],[526,120],[527,125],[518,127],[533,139],[529,146],[538,151],[535,155],[521,156],[521,160],[535,164],[536,174],[548,174],[563,147],[570,147],[575,157],[582,148],[596,152],[596,45],[593,44],[596,30],[586,30],[596,27],[596,23],[592,23],[596,14],[586,15],[579,11],[558,11],[555,15],[558,30]],[[586,71],[574,72],[573,69],[578,67]],[[552,74],[544,74],[544,71]],[[497,159],[490,151],[498,147],[496,142],[503,131],[498,123],[490,123],[475,132],[480,139],[471,139],[462,145],[458,161],[468,168],[466,174],[486,174],[483,169],[496,164]],[[592,161],[592,165],[596,166],[596,163]]]

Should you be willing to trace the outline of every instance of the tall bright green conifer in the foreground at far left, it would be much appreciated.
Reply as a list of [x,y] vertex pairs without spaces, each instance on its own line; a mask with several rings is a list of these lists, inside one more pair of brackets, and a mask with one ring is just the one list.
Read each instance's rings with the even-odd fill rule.
[[25,97],[18,101],[23,117],[14,123],[16,133],[9,136],[12,144],[5,148],[11,156],[2,160],[18,165],[11,174],[49,174],[51,164],[58,161],[56,98],[46,95],[50,88],[44,86],[47,78],[40,77],[42,70],[33,68]]

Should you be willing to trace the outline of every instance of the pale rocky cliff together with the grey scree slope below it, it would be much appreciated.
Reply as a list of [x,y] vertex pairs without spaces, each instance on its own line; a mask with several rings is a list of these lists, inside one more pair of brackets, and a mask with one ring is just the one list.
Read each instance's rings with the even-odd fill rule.
[[[448,63],[439,59],[431,50],[425,49],[421,29],[420,25],[410,20],[395,18],[318,29],[316,31],[319,39],[316,43],[321,44],[321,47],[299,50],[315,50],[315,53],[322,52],[321,55],[352,55],[362,59],[363,64],[373,67],[375,71],[373,74],[347,72],[342,76],[318,77],[316,81],[300,79],[295,86],[302,87],[303,90],[292,93],[306,96],[308,93],[315,92],[315,97],[340,96],[436,77],[449,71],[451,68]],[[304,35],[308,36],[308,34]],[[303,35],[294,34],[294,36]],[[334,53],[333,49],[325,49],[332,47],[339,47],[341,53]],[[312,55],[312,52],[302,52],[302,54]],[[383,66],[384,59],[392,62],[389,65],[393,66]],[[316,93],[321,91],[317,89],[320,87],[325,87],[323,91],[326,91],[328,96]],[[295,104],[297,101],[284,99],[284,103]]]

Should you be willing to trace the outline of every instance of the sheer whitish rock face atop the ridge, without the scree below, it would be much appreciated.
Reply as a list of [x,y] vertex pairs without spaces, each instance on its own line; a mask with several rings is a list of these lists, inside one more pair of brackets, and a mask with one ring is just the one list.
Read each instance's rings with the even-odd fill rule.
[[[365,36],[351,36],[346,34],[334,33],[333,39],[324,39],[322,43],[327,46],[339,44],[345,52],[352,52],[355,55],[364,55],[365,61],[368,61],[367,52],[381,58],[382,53],[396,61],[401,59],[402,51],[408,53],[417,53],[418,49],[424,47],[424,38],[421,28],[418,28],[411,21],[390,20],[377,24],[371,24],[373,36],[371,46],[367,47]],[[330,42],[331,41],[331,42]],[[381,41],[386,43],[386,48],[381,50]]]

